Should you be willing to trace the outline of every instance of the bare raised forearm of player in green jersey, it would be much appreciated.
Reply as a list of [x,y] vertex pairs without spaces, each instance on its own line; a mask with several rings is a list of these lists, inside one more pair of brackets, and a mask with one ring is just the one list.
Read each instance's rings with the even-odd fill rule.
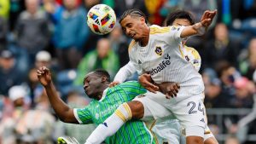
[[73,112],[73,109],[67,106],[64,101],[61,100],[60,96],[57,94],[55,85],[50,83],[44,87],[49,98],[51,107],[53,107],[56,115],[61,121],[65,123],[78,123],[74,117],[70,117],[70,113]]

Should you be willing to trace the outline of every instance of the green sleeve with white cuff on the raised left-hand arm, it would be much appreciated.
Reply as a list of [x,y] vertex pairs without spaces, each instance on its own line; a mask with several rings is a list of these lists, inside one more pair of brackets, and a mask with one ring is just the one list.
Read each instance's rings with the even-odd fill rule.
[[90,105],[84,108],[74,108],[73,113],[75,118],[79,121],[79,124],[92,124],[92,118],[90,114]]

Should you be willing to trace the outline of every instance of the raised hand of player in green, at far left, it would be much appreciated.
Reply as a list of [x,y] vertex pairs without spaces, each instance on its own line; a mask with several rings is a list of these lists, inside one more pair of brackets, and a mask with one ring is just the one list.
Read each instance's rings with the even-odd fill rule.
[[37,70],[38,73],[38,81],[43,85],[47,86],[52,82],[51,73],[49,72],[49,68],[46,66],[41,66]]

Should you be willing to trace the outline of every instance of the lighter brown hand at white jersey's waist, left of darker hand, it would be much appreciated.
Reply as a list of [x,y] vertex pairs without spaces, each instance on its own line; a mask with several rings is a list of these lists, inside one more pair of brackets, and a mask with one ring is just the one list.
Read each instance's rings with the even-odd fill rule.
[[159,87],[152,84],[153,79],[151,78],[150,74],[144,73],[143,75],[139,76],[138,81],[140,84],[143,85],[145,89],[148,89],[148,91],[152,93],[156,93],[156,91],[159,91]]

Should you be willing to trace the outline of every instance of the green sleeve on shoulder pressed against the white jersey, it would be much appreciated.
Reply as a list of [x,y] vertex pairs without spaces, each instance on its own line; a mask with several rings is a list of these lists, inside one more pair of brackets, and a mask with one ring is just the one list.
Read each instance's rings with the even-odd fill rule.
[[128,82],[119,84],[119,87],[124,89],[126,94],[131,96],[132,99],[135,98],[137,95],[145,94],[147,92],[147,89],[145,89],[137,81],[128,81]]

